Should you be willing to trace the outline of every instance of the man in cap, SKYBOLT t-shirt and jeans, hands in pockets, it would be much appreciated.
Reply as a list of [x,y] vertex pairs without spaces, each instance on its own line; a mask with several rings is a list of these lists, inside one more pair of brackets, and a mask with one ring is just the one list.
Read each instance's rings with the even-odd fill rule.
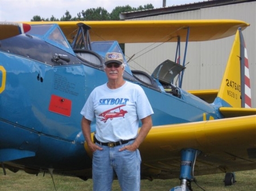
[[[138,147],[152,127],[151,105],[141,86],[123,79],[125,62],[121,53],[107,53],[108,82],[94,88],[82,108],[82,133],[93,152],[93,190],[110,191],[115,174],[122,191],[139,191],[141,155]],[[111,118],[107,111],[120,112]],[[96,134],[90,124],[96,118]],[[142,122],[138,133],[139,120]]]

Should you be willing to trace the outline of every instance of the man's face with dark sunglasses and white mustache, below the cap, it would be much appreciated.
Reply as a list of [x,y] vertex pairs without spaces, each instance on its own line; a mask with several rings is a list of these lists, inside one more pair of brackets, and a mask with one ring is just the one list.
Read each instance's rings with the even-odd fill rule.
[[108,79],[119,79],[123,78],[123,70],[124,67],[122,65],[119,65],[118,63],[109,63],[105,67],[105,72],[108,77]]

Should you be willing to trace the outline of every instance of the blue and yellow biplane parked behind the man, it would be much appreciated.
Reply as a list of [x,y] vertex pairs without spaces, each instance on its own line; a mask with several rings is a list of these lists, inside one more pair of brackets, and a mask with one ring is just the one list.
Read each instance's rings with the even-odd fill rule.
[[[123,53],[119,43],[188,43],[188,36],[189,41],[207,41],[234,35],[218,92],[191,94],[175,86],[172,82],[185,69],[177,53],[151,75],[131,70],[127,61],[123,74],[143,88],[154,110],[154,126],[139,148],[141,178],[179,178],[180,185],[171,190],[191,190],[195,176],[225,173],[225,185],[233,184],[233,172],[256,169],[256,109],[250,108],[242,36],[248,26],[240,20],[0,23],[3,172],[92,178],[80,111],[93,88],[106,83],[104,56]],[[92,136],[94,131],[95,121]]]

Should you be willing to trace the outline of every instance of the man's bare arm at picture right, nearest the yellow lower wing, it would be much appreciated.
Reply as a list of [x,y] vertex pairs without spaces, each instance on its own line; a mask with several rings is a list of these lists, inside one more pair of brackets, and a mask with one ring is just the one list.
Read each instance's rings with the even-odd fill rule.
[[139,148],[139,145],[141,145],[143,140],[146,138],[148,132],[152,128],[151,116],[142,118],[141,122],[142,122],[141,130],[139,130],[138,137],[135,139],[134,143],[132,145],[127,145],[125,147],[122,147],[119,151],[123,151],[126,149],[129,151],[135,151],[137,148]]

